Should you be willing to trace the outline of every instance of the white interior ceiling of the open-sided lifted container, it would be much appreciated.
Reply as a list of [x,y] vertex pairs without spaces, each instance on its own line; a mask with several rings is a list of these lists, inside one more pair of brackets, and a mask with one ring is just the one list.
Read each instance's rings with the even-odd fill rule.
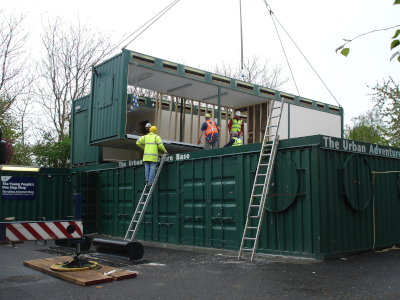
[[[137,81],[137,86],[140,88],[218,105],[217,84],[210,84],[196,80],[195,78],[192,79],[158,71],[152,67],[138,66],[134,68],[131,64],[129,64],[128,74],[129,85],[134,85],[135,81]],[[171,91],[178,87],[182,88]],[[224,86],[221,86],[221,95],[221,106],[235,109],[269,101],[264,97],[241,92]],[[212,96],[215,97],[212,99],[206,99]]]

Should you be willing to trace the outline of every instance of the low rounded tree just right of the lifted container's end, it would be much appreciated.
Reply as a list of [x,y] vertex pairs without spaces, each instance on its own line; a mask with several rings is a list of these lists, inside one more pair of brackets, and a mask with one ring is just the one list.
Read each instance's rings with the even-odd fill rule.
[[346,125],[344,137],[346,139],[371,144],[388,145],[384,137],[385,123],[377,107],[352,118],[352,126]]

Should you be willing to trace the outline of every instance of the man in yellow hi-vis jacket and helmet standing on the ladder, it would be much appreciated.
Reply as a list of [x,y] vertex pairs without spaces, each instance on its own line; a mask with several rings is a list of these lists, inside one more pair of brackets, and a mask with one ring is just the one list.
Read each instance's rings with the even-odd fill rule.
[[156,134],[157,127],[151,126],[150,123],[147,123],[145,127],[149,133],[138,139],[136,145],[144,149],[143,163],[146,185],[152,185],[156,176],[158,151],[167,154],[168,152],[161,141],[161,137]]

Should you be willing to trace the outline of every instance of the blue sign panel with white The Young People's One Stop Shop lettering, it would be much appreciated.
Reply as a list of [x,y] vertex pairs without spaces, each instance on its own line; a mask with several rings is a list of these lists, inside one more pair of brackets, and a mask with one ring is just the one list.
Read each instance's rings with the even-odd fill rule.
[[2,200],[35,200],[36,178],[1,176]]

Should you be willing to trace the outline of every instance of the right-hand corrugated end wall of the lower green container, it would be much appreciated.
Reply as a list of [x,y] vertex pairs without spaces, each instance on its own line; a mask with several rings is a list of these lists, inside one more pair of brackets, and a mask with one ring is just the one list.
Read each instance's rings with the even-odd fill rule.
[[[321,253],[326,258],[400,242],[400,161],[320,151]],[[336,174],[335,174],[336,172]]]

